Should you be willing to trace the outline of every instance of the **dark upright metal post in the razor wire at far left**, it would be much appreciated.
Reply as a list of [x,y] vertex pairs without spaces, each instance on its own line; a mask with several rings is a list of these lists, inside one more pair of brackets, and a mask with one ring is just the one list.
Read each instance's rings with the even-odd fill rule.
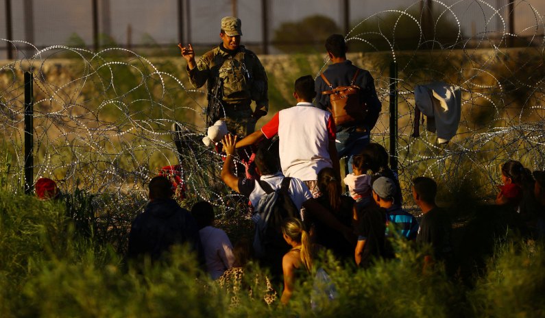
[[32,72],[25,72],[25,193],[32,192],[34,183],[34,94]]

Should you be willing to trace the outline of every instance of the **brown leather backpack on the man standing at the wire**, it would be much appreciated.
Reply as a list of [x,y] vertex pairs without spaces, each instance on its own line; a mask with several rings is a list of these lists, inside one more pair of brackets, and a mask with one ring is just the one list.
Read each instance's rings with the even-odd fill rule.
[[359,71],[360,69],[356,69],[350,86],[337,86],[336,88],[333,88],[324,73],[320,74],[324,82],[331,88],[331,90],[324,90],[322,95],[329,95],[331,114],[335,125],[361,124],[367,116],[369,111],[367,103],[360,102],[361,87],[354,85]]

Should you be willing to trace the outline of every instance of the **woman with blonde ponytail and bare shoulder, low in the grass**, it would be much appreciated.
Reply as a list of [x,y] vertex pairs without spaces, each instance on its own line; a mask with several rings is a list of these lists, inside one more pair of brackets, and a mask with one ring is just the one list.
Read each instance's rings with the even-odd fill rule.
[[313,265],[311,238],[304,230],[300,219],[289,217],[282,222],[282,234],[284,240],[291,245],[291,249],[282,258],[282,270],[284,271],[284,291],[280,302],[287,304],[293,293],[297,272],[305,269],[311,271]]

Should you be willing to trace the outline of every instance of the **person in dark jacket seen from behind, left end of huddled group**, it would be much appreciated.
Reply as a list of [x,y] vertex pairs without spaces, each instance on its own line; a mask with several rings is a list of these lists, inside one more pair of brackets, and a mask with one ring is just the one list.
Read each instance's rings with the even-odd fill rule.
[[157,176],[149,182],[149,203],[132,222],[129,234],[130,259],[147,256],[156,262],[165,258],[173,245],[187,244],[200,262],[204,260],[197,222],[172,196],[167,178]]

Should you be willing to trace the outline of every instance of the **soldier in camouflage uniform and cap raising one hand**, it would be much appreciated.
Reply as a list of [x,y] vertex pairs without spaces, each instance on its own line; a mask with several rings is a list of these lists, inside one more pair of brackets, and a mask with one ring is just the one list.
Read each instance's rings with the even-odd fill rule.
[[[240,45],[241,36],[241,20],[226,16],[221,19],[222,42],[204,53],[199,62],[195,62],[191,44],[179,45],[191,84],[195,88],[208,84],[206,125],[224,119],[228,130],[239,137],[254,132],[256,121],[269,108],[265,69],[254,52]],[[254,111],[252,100],[256,101]]]

